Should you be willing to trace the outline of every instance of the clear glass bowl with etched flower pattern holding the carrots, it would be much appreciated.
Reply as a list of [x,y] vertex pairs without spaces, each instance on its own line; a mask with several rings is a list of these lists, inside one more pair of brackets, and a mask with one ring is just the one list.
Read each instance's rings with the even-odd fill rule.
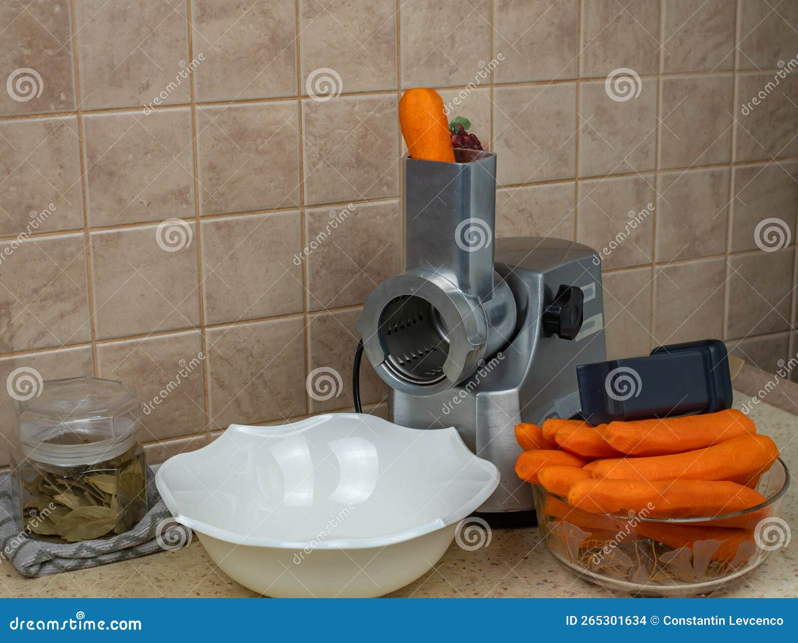
[[635,596],[711,594],[740,581],[786,546],[781,518],[789,473],[781,459],[757,483],[767,499],[712,518],[657,519],[645,511],[591,514],[535,485],[535,510],[548,550],[580,578]]

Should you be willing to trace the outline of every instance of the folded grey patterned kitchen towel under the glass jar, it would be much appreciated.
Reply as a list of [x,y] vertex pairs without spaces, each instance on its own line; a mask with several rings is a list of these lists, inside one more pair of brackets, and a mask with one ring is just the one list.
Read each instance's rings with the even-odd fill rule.
[[13,476],[0,473],[0,558],[8,558],[20,574],[47,576],[82,570],[108,562],[138,558],[157,551],[188,546],[192,531],[172,518],[147,467],[147,505],[144,518],[130,531],[111,538],[83,542],[48,542],[31,538],[22,529],[11,495]]

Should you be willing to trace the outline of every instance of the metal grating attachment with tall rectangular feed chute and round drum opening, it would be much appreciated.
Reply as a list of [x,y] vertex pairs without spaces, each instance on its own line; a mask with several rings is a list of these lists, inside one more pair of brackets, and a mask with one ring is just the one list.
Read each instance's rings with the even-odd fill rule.
[[405,157],[405,272],[369,295],[358,329],[394,389],[441,393],[507,345],[516,301],[494,270],[496,154]]

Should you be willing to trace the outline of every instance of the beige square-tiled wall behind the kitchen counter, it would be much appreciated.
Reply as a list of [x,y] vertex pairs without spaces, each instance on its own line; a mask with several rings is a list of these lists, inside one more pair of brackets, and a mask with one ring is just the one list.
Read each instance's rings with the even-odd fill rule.
[[[622,234],[610,357],[722,337],[775,369],[798,349],[796,7],[0,3],[0,381],[124,380],[154,460],[349,407],[362,303],[400,269],[397,100],[418,85],[498,152],[498,235]],[[636,97],[610,97],[618,68]],[[338,395],[310,396],[318,369]]]

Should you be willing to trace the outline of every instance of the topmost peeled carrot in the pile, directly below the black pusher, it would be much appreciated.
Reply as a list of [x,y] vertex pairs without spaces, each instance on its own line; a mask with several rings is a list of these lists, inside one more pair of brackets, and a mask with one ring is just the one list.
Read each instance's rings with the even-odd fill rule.
[[613,448],[631,456],[668,456],[756,432],[748,416],[729,408],[698,416],[610,422],[601,435]]

